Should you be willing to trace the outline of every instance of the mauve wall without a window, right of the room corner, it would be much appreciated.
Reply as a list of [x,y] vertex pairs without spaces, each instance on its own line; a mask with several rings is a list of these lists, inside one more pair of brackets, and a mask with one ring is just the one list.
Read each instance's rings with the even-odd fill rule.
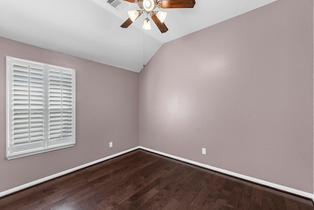
[[140,72],[140,146],[313,193],[313,0],[164,44]]

